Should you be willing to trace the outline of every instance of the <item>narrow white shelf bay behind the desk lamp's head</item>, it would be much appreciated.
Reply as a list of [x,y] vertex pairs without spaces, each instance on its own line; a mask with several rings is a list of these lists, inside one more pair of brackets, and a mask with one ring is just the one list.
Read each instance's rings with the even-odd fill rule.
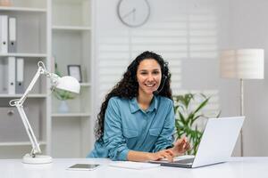
[[[63,76],[67,65],[80,65],[80,95],[67,101],[69,113],[58,113],[60,101],[52,98],[52,156],[85,158],[90,148],[91,82],[91,1],[52,1],[52,54]],[[66,13],[68,12],[68,13]],[[70,138],[68,147],[61,140]],[[66,142],[66,141],[65,141]],[[63,147],[65,147],[63,149]]]

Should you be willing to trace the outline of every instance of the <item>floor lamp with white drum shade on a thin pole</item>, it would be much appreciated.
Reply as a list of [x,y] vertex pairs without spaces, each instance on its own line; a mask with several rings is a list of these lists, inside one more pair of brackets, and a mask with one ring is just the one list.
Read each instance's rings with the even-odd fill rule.
[[[221,77],[240,80],[240,116],[244,116],[244,79],[264,78],[264,50],[225,50],[220,58]],[[244,156],[243,130],[240,131],[240,154]]]

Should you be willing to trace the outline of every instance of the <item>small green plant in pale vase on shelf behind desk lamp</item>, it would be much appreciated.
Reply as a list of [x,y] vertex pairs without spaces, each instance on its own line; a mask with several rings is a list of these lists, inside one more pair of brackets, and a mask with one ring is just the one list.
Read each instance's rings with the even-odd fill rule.
[[[60,73],[60,71],[58,69],[58,65],[57,65],[56,62],[54,63],[54,73],[56,75],[58,75],[59,77],[62,77],[62,75],[61,75],[61,73]],[[54,92],[53,93],[54,93],[54,97],[56,99],[58,99],[59,101],[61,101],[60,102],[60,105],[59,105],[59,108],[58,108],[58,111],[60,113],[69,112],[69,106],[68,106],[68,104],[67,104],[66,101],[67,100],[72,100],[72,99],[75,98],[74,95],[73,95],[73,93],[68,92],[68,91],[64,91],[64,90],[61,90],[61,89],[56,89],[56,88],[54,88]]]

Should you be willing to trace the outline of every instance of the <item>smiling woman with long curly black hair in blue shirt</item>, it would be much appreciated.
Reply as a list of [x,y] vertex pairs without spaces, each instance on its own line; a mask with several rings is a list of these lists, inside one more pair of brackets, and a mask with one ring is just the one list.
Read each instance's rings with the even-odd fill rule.
[[95,148],[88,157],[172,161],[188,150],[185,139],[172,147],[175,118],[170,82],[168,66],[160,55],[138,55],[105,97],[96,121]]

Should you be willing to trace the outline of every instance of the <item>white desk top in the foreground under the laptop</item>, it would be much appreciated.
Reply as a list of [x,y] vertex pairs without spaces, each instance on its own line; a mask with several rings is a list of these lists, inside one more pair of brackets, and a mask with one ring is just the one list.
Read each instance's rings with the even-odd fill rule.
[[[108,166],[109,159],[57,159],[49,165],[33,166],[21,159],[0,159],[1,178],[252,178],[268,177],[268,158],[231,158],[230,162],[195,169],[160,166],[133,170]],[[77,163],[94,163],[103,166],[94,171],[68,171],[66,167]]]

